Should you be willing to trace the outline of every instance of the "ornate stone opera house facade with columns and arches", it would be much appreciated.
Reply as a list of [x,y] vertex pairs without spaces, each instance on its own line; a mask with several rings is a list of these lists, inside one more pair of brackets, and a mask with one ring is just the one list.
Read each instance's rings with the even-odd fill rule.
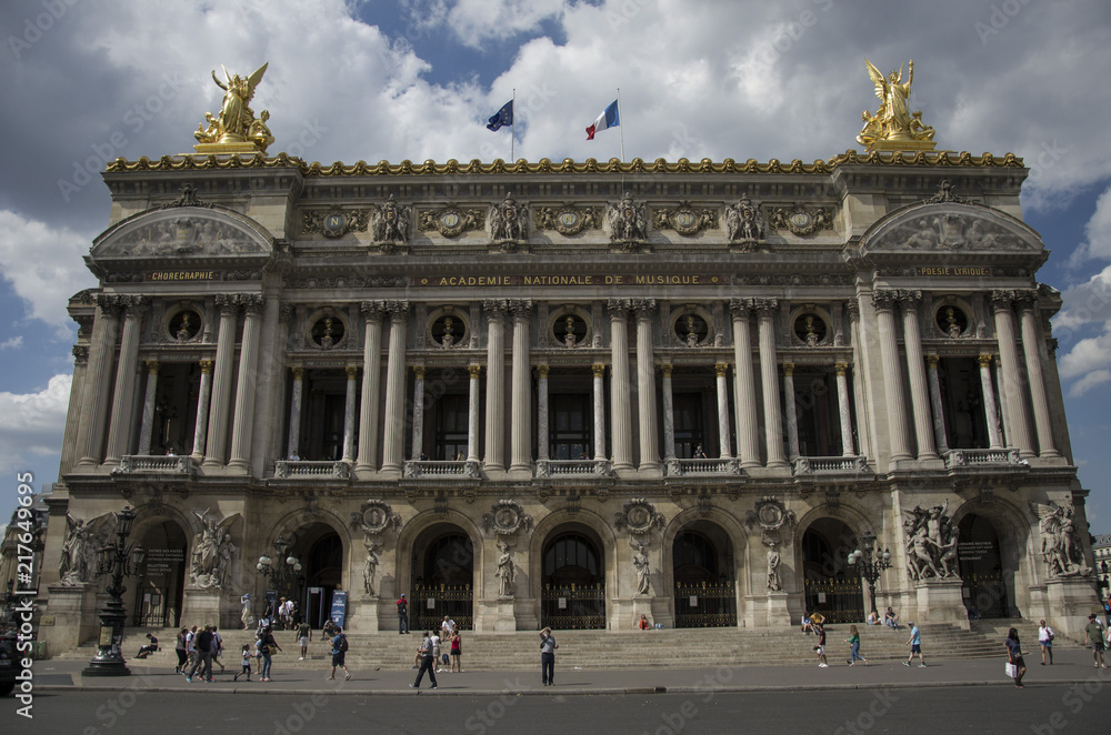
[[1075,630],[1087,491],[1027,173],[116,161],[43,635],[94,632],[78,557],[124,504],[129,624],[230,626],[268,590],[314,625],[342,590],[363,632],[401,593],[413,627],[862,621],[871,534],[881,611]]

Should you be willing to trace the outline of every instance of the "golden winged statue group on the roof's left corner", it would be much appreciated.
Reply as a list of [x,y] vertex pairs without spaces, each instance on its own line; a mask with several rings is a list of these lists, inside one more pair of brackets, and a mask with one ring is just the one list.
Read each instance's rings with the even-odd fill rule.
[[197,125],[193,138],[197,145],[193,149],[198,153],[258,153],[267,152],[267,147],[273,142],[273,135],[267,128],[270,112],[263,110],[256,119],[254,111],[250,108],[250,101],[254,97],[254,88],[262,81],[262,74],[267,72],[267,62],[259,67],[250,77],[230,74],[223,69],[226,82],[221,82],[216,71],[212,71],[212,81],[224,91],[223,105],[220,112],[212,114],[204,113],[204,123]]

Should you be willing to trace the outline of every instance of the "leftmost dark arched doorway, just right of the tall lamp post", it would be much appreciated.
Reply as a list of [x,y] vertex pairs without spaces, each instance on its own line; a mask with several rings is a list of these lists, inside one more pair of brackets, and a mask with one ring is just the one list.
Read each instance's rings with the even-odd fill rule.
[[148,526],[139,544],[146,550],[134,585],[132,625],[178,627],[186,586],[186,532],[176,521]]

